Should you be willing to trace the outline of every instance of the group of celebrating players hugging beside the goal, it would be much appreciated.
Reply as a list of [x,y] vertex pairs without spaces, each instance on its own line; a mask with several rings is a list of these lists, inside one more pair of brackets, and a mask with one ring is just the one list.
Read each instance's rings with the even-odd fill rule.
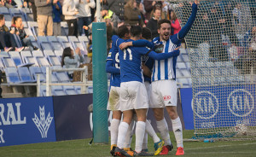
[[[172,120],[177,141],[176,155],[183,155],[183,129],[177,115],[176,62],[181,40],[195,21],[198,1],[192,4],[192,13],[180,32],[171,34],[170,20],[158,21],[160,37],[150,40],[151,32],[140,26],[119,26],[113,36],[106,71],[111,73],[108,110],[113,111],[110,126],[113,156],[150,156],[148,135],[154,140],[154,155],[168,154],[172,142],[164,117],[166,108]],[[152,108],[161,140],[147,120]],[[123,114],[123,121],[121,115]],[[135,151],[131,138],[136,124]]]

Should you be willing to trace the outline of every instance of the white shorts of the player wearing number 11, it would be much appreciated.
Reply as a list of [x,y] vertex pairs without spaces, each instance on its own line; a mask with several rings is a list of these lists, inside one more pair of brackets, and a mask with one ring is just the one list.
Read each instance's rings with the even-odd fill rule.
[[123,82],[120,86],[121,111],[148,108],[148,95],[143,83],[137,81]]

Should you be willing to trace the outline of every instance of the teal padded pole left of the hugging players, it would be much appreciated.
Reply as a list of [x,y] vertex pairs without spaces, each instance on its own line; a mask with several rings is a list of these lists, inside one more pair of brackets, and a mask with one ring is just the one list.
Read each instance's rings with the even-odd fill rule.
[[92,23],[93,137],[95,143],[108,143],[107,27]]

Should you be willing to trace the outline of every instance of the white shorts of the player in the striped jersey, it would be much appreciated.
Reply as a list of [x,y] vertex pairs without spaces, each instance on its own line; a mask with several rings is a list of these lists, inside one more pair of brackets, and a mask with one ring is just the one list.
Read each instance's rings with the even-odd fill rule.
[[159,80],[152,84],[150,108],[177,106],[177,83],[175,80]]

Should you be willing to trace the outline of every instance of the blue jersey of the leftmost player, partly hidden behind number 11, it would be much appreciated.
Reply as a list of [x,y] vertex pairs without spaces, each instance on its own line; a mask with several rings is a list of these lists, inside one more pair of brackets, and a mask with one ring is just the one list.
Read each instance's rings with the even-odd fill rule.
[[111,61],[111,63],[109,63],[110,66],[116,68],[116,69],[112,68],[112,71],[111,71],[111,69],[109,69],[109,67],[106,67],[106,69],[108,68],[108,72],[111,73],[110,85],[119,87],[120,86],[120,73],[119,73],[119,70],[117,70],[117,69],[120,69],[119,48],[116,45],[116,41],[113,41],[113,43],[112,43],[112,48],[110,49],[110,51],[108,53],[107,61]]

